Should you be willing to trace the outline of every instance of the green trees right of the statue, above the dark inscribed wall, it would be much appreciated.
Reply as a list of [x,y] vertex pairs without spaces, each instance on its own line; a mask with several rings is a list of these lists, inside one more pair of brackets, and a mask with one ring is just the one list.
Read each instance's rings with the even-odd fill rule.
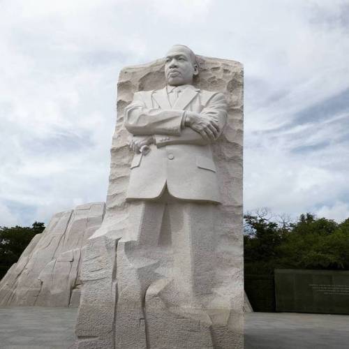
[[267,209],[244,216],[247,274],[276,268],[349,269],[349,218],[341,223],[307,213],[292,222]]

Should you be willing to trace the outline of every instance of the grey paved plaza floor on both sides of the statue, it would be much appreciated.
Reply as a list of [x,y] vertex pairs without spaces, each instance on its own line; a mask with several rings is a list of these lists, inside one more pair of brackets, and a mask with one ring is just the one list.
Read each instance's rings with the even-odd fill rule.
[[[0,348],[68,349],[76,315],[67,308],[0,308]],[[246,314],[245,349],[342,348],[349,348],[349,315]]]

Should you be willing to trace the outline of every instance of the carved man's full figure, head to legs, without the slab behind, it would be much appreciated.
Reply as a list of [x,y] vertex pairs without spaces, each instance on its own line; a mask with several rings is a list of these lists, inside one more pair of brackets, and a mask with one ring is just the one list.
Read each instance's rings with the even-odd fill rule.
[[[174,348],[178,341],[184,348],[193,323],[209,328],[221,202],[211,143],[225,126],[227,103],[193,86],[198,73],[195,54],[175,45],[165,58],[166,87],[136,92],[125,109],[135,155],[130,228],[117,253],[116,348]],[[194,335],[193,348],[209,348],[209,330]]]

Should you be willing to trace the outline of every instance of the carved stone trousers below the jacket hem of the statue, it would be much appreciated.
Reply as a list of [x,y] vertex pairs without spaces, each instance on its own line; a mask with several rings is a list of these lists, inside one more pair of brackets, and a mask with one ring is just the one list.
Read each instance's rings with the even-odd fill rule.
[[116,348],[142,348],[147,292],[177,309],[205,308],[213,292],[216,209],[178,200],[167,188],[158,200],[130,202],[128,235],[117,247]]

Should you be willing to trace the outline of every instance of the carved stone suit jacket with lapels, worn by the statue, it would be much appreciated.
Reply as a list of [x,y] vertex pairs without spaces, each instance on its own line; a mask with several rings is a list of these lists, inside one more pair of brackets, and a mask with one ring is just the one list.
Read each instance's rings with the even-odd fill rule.
[[156,199],[166,185],[183,200],[221,202],[211,144],[183,127],[184,110],[218,119],[220,133],[227,117],[225,96],[188,85],[170,105],[166,87],[139,91],[125,109],[124,126],[134,136],[154,135],[147,155],[135,154],[127,200]]

